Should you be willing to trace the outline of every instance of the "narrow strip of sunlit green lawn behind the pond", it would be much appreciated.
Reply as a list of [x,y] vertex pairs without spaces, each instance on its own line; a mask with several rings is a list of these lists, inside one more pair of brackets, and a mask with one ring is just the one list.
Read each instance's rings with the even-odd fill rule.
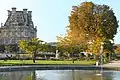
[[95,61],[53,61],[53,60],[36,60],[36,63],[33,63],[32,60],[0,60],[0,65],[32,65],[32,64],[79,64],[79,65],[93,65]]

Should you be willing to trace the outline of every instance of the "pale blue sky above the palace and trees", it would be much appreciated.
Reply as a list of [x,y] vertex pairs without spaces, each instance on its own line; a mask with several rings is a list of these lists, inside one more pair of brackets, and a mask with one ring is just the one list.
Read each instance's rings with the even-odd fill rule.
[[[2,0],[0,2],[0,23],[4,24],[7,19],[7,10],[11,10],[12,7],[16,7],[17,10],[27,8],[32,11],[32,20],[38,30],[37,37],[46,42],[54,42],[57,41],[57,36],[66,33],[72,6],[80,5],[84,1],[109,5],[117,20],[120,21],[120,0]],[[114,38],[116,44],[120,44],[119,37],[120,28]]]

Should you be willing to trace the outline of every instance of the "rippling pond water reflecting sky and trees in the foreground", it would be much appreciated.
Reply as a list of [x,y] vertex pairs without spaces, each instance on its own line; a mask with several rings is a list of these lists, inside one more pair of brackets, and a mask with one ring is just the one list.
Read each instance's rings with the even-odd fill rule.
[[120,71],[33,70],[0,72],[0,80],[120,80]]

